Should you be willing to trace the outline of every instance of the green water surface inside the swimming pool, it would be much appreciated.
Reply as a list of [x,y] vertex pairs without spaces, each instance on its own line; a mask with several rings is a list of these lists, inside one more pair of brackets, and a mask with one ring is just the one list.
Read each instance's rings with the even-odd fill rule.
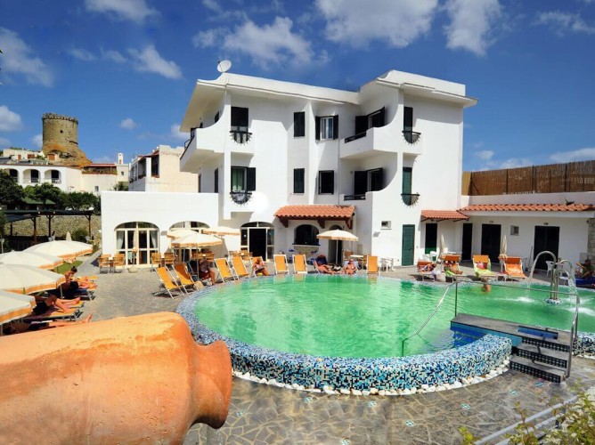
[[[544,289],[545,287],[536,287]],[[245,279],[212,289],[195,313],[208,328],[247,344],[282,352],[332,357],[398,357],[434,310],[444,286],[396,279],[308,275]],[[579,290],[579,330],[595,332],[595,293]],[[568,329],[575,300],[544,303],[548,295],[519,287],[460,285],[458,312],[549,328]],[[424,328],[406,344],[404,355],[432,352],[473,341],[453,335],[455,292]]]

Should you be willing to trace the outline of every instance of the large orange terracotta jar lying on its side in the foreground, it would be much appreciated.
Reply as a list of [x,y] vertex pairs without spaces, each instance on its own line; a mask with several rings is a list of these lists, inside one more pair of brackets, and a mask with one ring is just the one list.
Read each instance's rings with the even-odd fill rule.
[[173,312],[0,337],[0,443],[182,443],[224,425],[232,362]]

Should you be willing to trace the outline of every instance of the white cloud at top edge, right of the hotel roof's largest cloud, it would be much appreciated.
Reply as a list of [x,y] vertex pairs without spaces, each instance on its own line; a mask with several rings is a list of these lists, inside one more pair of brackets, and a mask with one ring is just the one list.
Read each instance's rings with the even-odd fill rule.
[[498,0],[449,0],[451,24],[445,27],[446,46],[485,55],[492,44],[492,28],[501,16]]

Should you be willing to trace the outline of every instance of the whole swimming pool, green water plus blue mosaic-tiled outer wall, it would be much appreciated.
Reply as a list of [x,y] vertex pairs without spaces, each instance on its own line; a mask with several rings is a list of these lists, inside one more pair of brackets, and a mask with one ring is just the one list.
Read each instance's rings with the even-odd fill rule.
[[[403,338],[421,326],[444,289],[384,277],[270,277],[208,288],[178,312],[203,343],[224,339],[237,372],[315,388],[419,387],[486,374],[510,353],[502,337],[477,340],[450,331],[452,291],[399,357]],[[595,332],[595,302],[591,292],[580,292],[591,305],[583,308],[579,329]],[[458,312],[569,328],[574,301],[562,295],[561,304],[551,305],[543,303],[546,296],[496,286],[486,295],[477,285],[461,285],[456,301]]]

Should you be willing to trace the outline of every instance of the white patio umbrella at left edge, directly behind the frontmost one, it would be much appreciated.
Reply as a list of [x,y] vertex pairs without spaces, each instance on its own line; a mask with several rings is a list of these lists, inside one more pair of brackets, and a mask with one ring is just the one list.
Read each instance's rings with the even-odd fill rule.
[[65,281],[61,273],[21,264],[0,264],[0,290],[31,294],[55,289]]

